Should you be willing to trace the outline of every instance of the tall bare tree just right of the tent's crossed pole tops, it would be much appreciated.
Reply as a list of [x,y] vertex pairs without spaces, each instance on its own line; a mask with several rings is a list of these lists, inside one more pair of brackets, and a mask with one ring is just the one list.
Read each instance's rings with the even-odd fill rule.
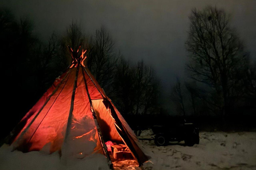
[[91,48],[92,50],[87,56],[88,68],[106,93],[109,94],[112,92],[110,84],[113,83],[119,55],[116,53],[114,42],[104,26],[96,30],[95,35],[91,38]]

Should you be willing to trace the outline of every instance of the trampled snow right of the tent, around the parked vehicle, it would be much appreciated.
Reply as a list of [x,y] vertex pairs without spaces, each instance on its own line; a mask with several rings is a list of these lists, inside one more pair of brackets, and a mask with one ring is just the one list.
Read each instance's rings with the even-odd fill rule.
[[144,140],[153,163],[145,164],[145,169],[256,169],[256,132],[200,132],[199,135],[200,143],[193,147],[184,146],[184,142],[158,147],[153,140]]

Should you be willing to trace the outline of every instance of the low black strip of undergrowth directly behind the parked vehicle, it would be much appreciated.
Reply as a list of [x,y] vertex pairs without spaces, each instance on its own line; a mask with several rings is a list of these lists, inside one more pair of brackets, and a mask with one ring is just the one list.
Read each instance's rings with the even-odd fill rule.
[[175,126],[177,124],[194,123],[200,131],[255,131],[254,115],[235,115],[223,124],[221,116],[187,116],[186,122],[180,116],[172,115],[130,115],[125,116],[129,126],[136,131],[152,128],[152,126]]

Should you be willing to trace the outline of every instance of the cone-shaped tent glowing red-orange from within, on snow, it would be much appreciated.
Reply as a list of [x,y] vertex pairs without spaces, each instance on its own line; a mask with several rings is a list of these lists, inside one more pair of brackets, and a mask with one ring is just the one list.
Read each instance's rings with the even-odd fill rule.
[[92,153],[104,154],[111,166],[106,141],[122,143],[139,164],[149,157],[138,138],[83,64],[69,47],[73,62],[58,77],[8,137],[14,149],[23,152],[59,151],[82,159]]

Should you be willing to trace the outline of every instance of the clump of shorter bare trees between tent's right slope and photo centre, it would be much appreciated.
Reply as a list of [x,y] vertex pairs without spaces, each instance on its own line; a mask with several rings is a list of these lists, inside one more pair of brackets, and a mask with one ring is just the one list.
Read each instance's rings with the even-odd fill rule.
[[115,74],[113,97],[125,115],[144,115],[159,112],[160,83],[152,67],[143,60],[132,65],[123,58]]

